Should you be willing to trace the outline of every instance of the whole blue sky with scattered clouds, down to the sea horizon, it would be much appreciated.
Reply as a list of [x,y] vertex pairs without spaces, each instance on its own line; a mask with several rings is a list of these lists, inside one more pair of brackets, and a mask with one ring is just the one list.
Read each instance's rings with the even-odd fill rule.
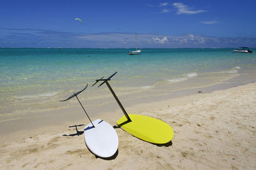
[[[75,18],[83,20],[83,24]],[[0,47],[256,47],[256,1],[1,0]]]

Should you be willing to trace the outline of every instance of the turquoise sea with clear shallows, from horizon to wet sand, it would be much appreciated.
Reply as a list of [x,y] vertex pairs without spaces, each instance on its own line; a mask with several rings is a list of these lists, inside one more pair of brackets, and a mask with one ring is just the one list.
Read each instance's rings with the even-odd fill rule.
[[[106,84],[111,78],[116,96],[161,96],[214,85],[237,86],[256,81],[253,53],[232,53],[233,48],[143,48],[128,55],[126,48],[0,48],[0,122],[26,113],[78,106],[100,106],[114,100]],[[111,98],[112,97],[112,98]],[[106,101],[104,101],[106,102]]]

